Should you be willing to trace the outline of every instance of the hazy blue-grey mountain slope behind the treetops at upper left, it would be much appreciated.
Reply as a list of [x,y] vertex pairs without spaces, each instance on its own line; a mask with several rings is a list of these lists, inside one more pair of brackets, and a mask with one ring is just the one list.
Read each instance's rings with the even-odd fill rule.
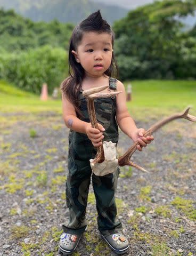
[[95,3],[91,0],[0,0],[0,7],[5,10],[14,9],[24,17],[33,21],[51,21],[77,23],[87,15],[100,9],[109,23],[126,16],[128,9],[115,5]]

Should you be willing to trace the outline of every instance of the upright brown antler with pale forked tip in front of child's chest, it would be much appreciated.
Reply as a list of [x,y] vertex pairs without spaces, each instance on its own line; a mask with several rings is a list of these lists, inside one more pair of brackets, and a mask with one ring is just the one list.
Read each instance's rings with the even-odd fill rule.
[[[109,93],[101,93],[104,89],[107,89],[109,86],[104,85],[100,87],[95,87],[93,89],[88,89],[83,91],[84,97],[86,97],[87,102],[87,108],[88,108],[88,115],[89,119],[91,121],[91,125],[93,128],[99,129],[97,120],[96,120],[96,114],[95,114],[95,106],[94,106],[94,99],[96,98],[109,98],[112,95],[117,95],[121,92],[109,92]],[[105,157],[104,157],[104,150],[103,145],[97,147],[97,153],[93,160],[93,164],[95,163],[103,163]]]

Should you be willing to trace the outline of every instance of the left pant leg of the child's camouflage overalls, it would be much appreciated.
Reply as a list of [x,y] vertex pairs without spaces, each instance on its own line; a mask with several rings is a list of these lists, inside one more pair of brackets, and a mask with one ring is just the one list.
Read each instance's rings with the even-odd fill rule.
[[85,213],[91,173],[89,161],[73,161],[71,157],[69,158],[66,199],[70,219],[68,225],[63,225],[63,230],[67,233],[74,230],[76,234],[81,234],[86,228]]

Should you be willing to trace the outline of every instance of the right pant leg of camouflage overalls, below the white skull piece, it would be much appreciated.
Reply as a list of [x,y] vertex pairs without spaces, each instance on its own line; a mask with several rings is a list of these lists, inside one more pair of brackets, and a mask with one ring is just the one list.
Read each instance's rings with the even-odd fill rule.
[[119,176],[119,168],[114,173],[96,176],[93,173],[93,189],[96,198],[97,224],[99,231],[107,235],[110,230],[121,229],[121,223],[116,222],[117,208],[115,191]]

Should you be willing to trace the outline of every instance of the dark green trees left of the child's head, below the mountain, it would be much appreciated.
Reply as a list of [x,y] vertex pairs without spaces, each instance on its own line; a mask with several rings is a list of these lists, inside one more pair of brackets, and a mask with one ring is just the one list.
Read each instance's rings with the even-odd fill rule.
[[0,52],[2,49],[9,52],[27,50],[46,44],[67,49],[73,28],[71,23],[61,23],[57,20],[33,22],[13,10],[0,9]]

